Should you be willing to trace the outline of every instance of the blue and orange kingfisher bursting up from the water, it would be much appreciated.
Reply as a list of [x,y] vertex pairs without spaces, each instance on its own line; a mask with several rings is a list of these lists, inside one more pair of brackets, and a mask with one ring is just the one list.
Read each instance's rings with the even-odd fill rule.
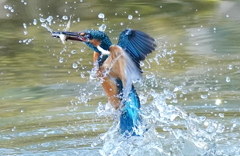
[[98,30],[53,31],[52,36],[80,41],[93,50],[95,75],[102,80],[108,102],[121,112],[119,132],[124,136],[137,135],[136,129],[141,125],[140,100],[133,83],[142,78],[140,63],[155,50],[155,40],[129,28],[120,33],[116,45]]

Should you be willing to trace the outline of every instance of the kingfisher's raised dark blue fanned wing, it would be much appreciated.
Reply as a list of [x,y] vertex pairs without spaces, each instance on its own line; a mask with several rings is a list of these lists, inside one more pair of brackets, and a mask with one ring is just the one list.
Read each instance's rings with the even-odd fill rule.
[[140,61],[155,50],[155,40],[139,30],[125,29],[119,36],[118,45],[131,57],[138,69]]

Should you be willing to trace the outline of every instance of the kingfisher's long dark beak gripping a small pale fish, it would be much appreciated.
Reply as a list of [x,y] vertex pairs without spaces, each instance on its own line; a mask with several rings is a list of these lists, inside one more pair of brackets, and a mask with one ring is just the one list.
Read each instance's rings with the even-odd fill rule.
[[52,37],[60,38],[62,41],[67,41],[67,40],[74,40],[74,41],[80,41],[84,42],[87,41],[87,38],[82,35],[82,32],[70,32],[70,31],[53,31],[52,32]]

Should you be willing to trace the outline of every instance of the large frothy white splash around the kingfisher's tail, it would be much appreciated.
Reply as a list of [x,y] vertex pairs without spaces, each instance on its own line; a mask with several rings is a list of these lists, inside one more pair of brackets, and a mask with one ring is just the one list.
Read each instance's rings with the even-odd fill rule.
[[115,121],[93,146],[102,144],[99,152],[103,156],[216,155],[216,144],[222,139],[225,126],[205,116],[188,114],[181,107],[167,104],[167,97],[173,94],[170,91],[149,93],[153,100],[141,109],[143,126],[139,131],[143,135],[130,139],[118,132],[120,113],[111,110],[109,104],[99,104],[98,115],[112,115]]

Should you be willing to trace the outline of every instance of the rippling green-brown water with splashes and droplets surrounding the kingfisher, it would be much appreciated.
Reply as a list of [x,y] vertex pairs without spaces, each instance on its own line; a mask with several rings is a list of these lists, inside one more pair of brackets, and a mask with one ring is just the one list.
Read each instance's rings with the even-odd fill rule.
[[[239,2],[0,1],[1,155],[240,155]],[[114,8],[114,9],[111,9]],[[122,138],[117,112],[89,79],[92,51],[46,28],[126,27],[156,52],[136,84],[144,137]],[[45,25],[43,25],[45,24]]]

